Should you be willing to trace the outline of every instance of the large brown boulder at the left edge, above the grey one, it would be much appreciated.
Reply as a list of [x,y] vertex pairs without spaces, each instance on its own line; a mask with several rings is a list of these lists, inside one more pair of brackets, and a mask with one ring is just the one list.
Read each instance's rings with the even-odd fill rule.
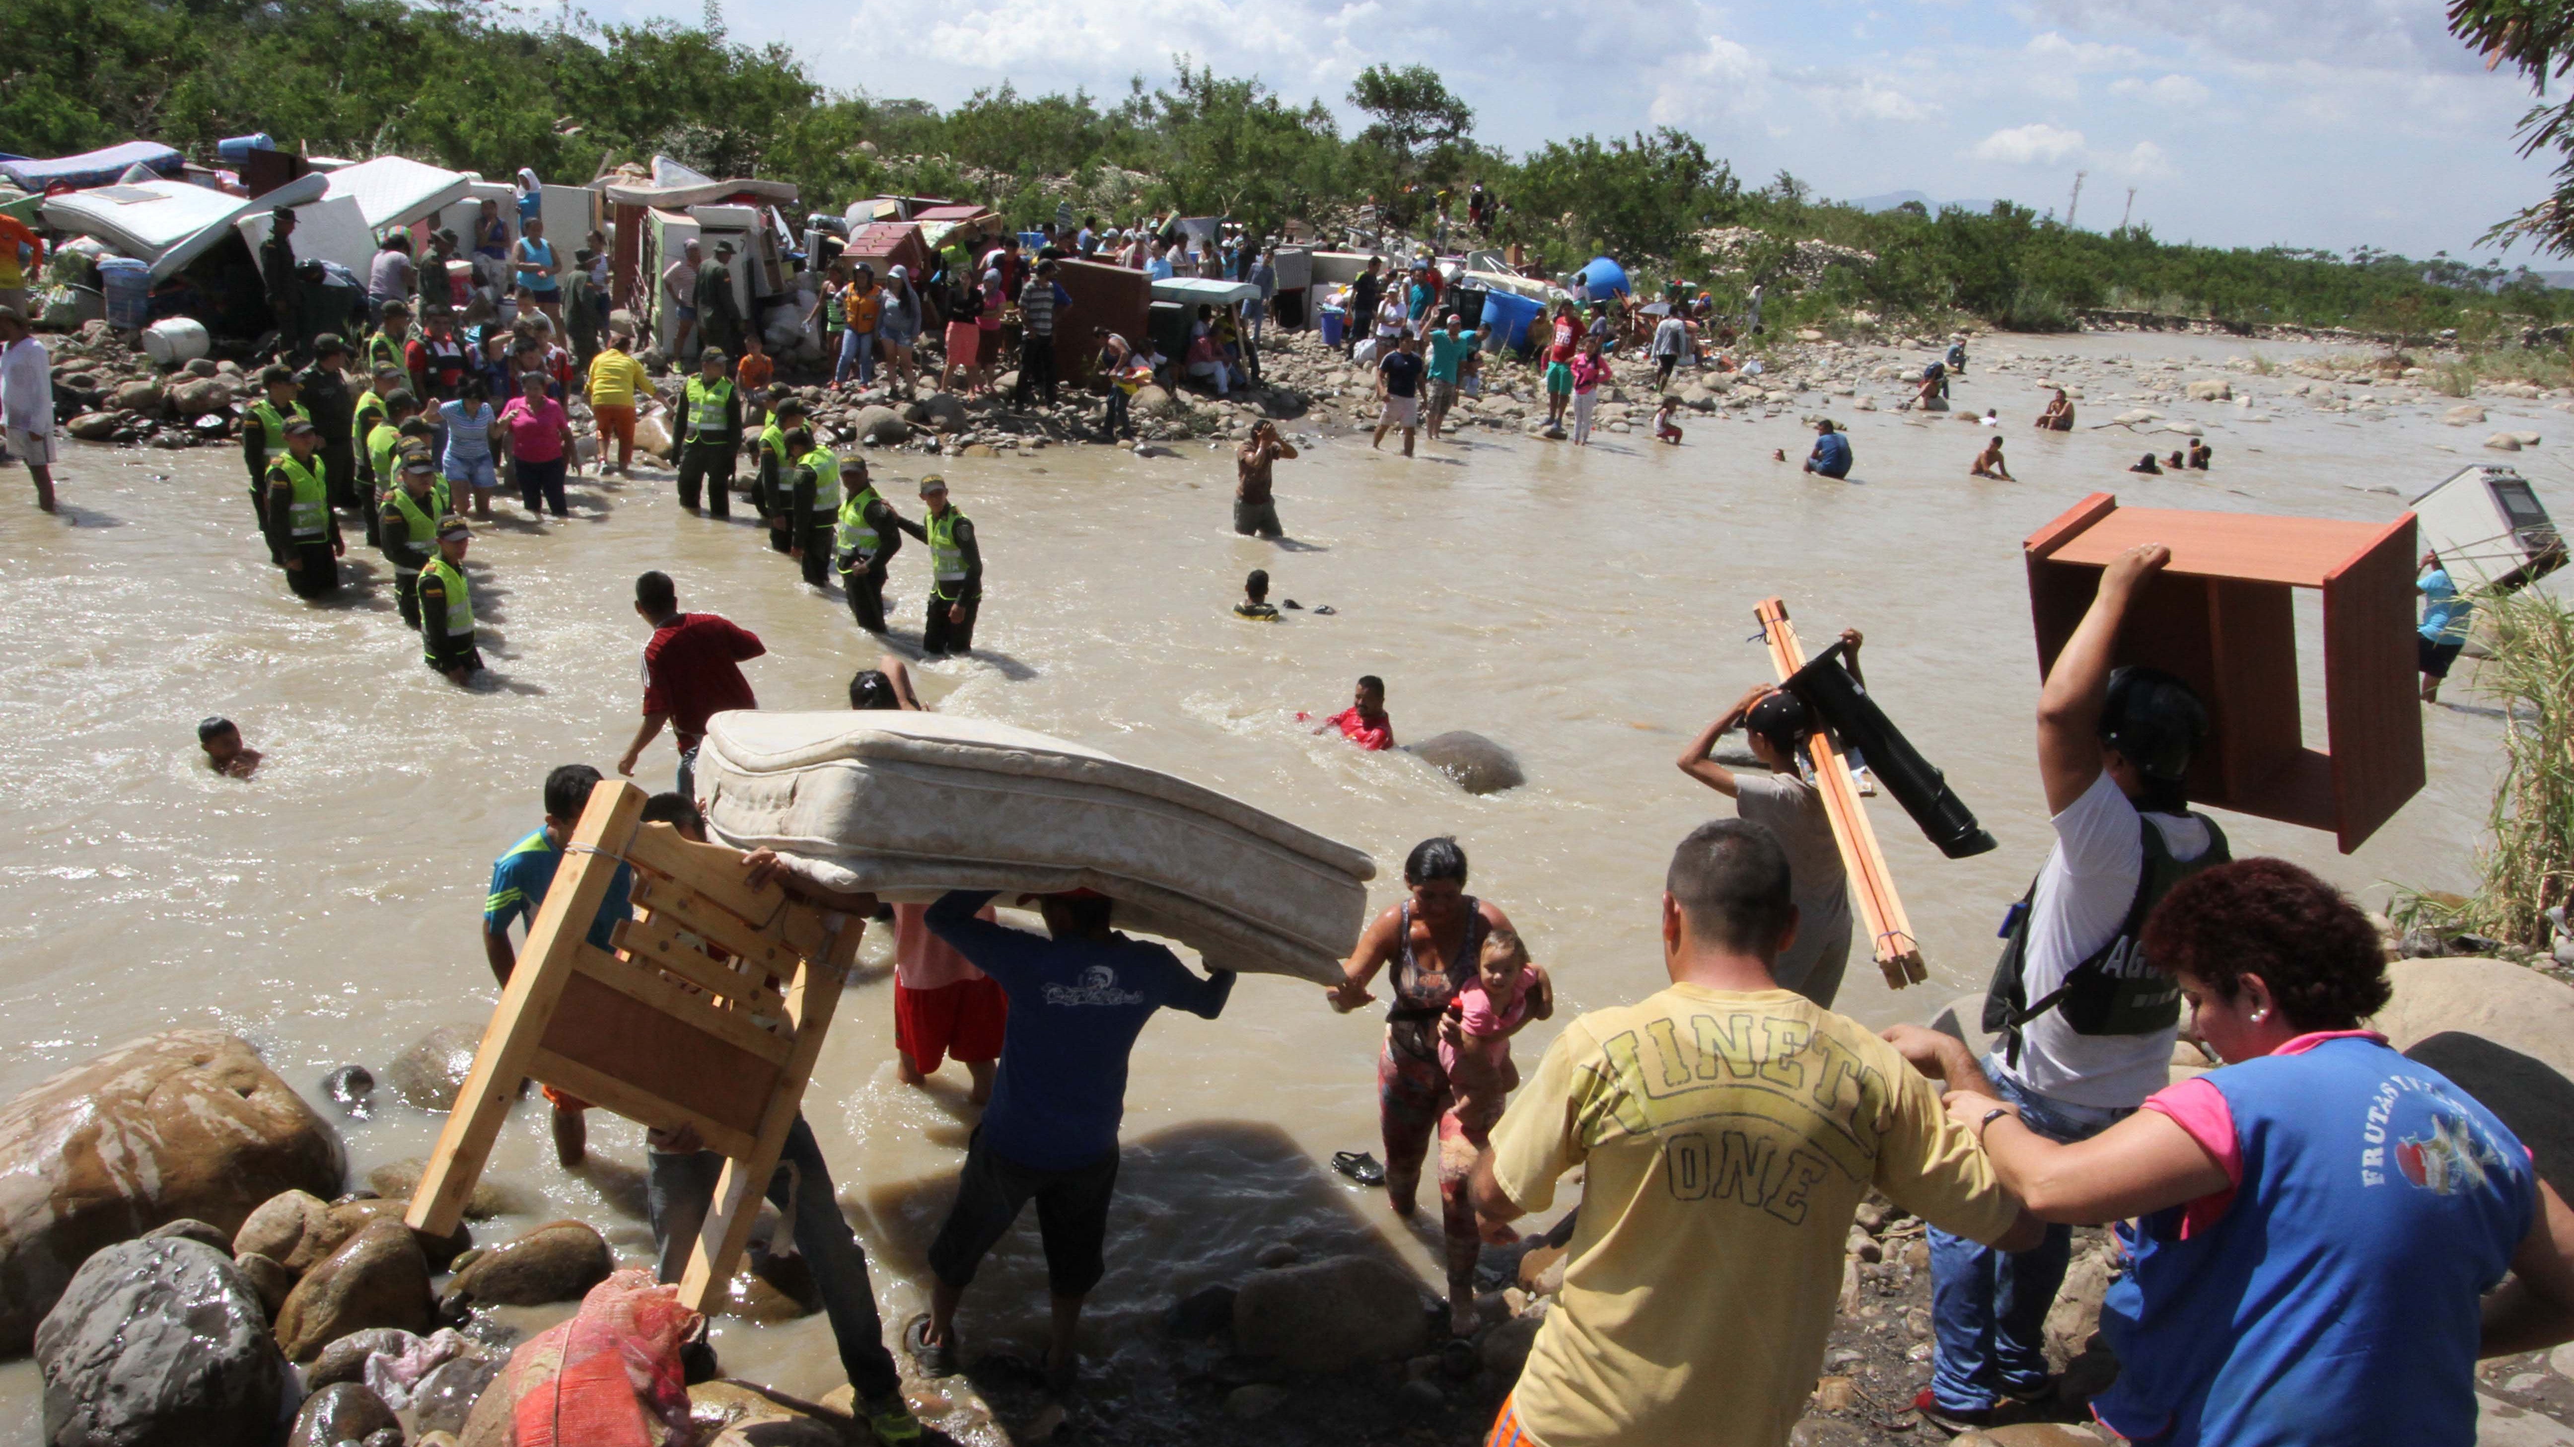
[[345,1172],[340,1133],[216,1030],[147,1035],[28,1089],[0,1105],[0,1357],[28,1349],[90,1251],[183,1218],[239,1231],[281,1190],[337,1195]]

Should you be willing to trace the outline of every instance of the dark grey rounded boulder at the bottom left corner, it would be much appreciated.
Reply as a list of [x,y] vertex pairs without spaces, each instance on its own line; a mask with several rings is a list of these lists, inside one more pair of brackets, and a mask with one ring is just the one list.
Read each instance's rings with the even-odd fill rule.
[[250,1282],[175,1236],[90,1254],[36,1365],[49,1447],[268,1447],[296,1398]]

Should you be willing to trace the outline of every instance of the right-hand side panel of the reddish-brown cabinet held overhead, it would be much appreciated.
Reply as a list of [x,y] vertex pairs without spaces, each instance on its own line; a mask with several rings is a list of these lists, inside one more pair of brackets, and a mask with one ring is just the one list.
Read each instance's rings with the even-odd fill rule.
[[2324,579],[2324,718],[2335,845],[2347,855],[2422,790],[2414,659],[2414,515]]

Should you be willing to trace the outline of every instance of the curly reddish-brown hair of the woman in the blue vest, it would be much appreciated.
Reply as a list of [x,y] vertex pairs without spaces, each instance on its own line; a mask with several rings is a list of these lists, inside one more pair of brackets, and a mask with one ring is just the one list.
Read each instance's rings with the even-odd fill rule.
[[2260,976],[2299,1030],[2355,1030],[2389,996],[2378,929],[2288,860],[2234,860],[2180,881],[2147,917],[2142,945],[2157,971],[2229,1002]]

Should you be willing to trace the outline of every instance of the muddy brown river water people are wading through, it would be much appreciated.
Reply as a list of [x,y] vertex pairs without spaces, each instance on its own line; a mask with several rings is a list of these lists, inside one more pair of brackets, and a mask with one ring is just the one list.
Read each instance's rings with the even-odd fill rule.
[[[2180,438],[2031,433],[2044,368],[1990,371],[2005,353],[2067,358],[2059,376],[2088,378],[2085,422],[2103,422],[2129,404],[2111,391],[2136,391],[2106,358],[2190,358],[2201,376],[2245,350],[2198,337],[1982,340],[1956,397],[2003,409],[2015,484],[1964,476],[1982,445],[1974,427],[1851,412],[1838,397],[1768,420],[1699,417],[1683,448],[1642,430],[1604,433],[1588,451],[1472,430],[1472,445],[1403,461],[1372,456],[1364,435],[1333,435],[1277,469],[1287,546],[1230,533],[1230,456],[1205,443],[1181,443],[1179,458],[1063,445],[942,463],[901,453],[878,476],[898,479],[885,492],[911,512],[909,481],[937,466],[983,538],[986,654],[919,669],[934,708],[1102,747],[1359,845],[1380,865],[1375,904],[1398,896],[1416,839],[1457,834],[1472,893],[1511,911],[1570,1009],[1663,984],[1655,893],[1668,850],[1730,811],[1673,760],[1707,716],[1771,677],[1753,602],[1784,595],[1810,646],[1864,628],[1874,695],[2000,839],[1946,863],[1892,801],[1874,803],[1930,984],[1894,994],[1853,958],[1840,1007],[1866,1022],[1923,1020],[1982,986],[1995,924],[2049,839],[2031,762],[2026,533],[2095,489],[2152,507],[2381,520],[2402,502],[2371,489],[2409,497],[2489,456],[2474,445],[2484,427],[2438,425],[2443,397],[2363,422],[2278,397],[2288,376],[2237,373],[2257,399],[2250,412],[2162,407],[2208,427],[2216,471],[2129,476],[2144,445]],[[1892,384],[1876,391],[1894,397]],[[2494,427],[2564,422],[2535,402],[2489,407]],[[1853,422],[1853,481],[1771,461],[1771,448],[1804,453],[1804,409]],[[2546,456],[2517,461],[2564,497]],[[293,600],[250,536],[237,453],[75,445],[59,479],[59,520],[26,507],[18,474],[0,479],[0,778],[18,819],[0,839],[8,1094],[131,1035],[198,1025],[255,1040],[337,1115],[319,1092],[332,1066],[381,1076],[430,1027],[481,1022],[497,999],[479,945],[492,857],[538,824],[548,767],[610,767],[633,731],[646,636],[628,605],[636,572],[667,569],[682,608],[718,610],[767,641],[746,669],[767,708],[839,708],[849,672],[875,654],[837,595],[795,582],[746,507],[731,525],[690,518],[659,469],[631,484],[574,479],[569,523],[533,528],[502,505],[510,520],[476,538],[468,564],[494,669],[474,690],[420,664],[391,572],[355,533],[358,584],[332,605]],[[921,548],[906,548],[891,590],[914,636],[921,566]],[[1233,621],[1254,566],[1305,610],[1282,626]],[[2311,597],[2301,621],[2311,646]],[[1362,672],[1385,675],[1400,739],[1475,729],[1516,749],[1529,785],[1470,798],[1418,760],[1362,754],[1295,724],[1297,708],[1341,708]],[[2471,700],[2468,682],[2461,672],[2453,698]],[[2317,677],[2306,693],[2319,739]],[[206,713],[229,713],[268,752],[257,780],[219,780],[198,762],[193,724]],[[2224,826],[2237,852],[2296,857],[2371,904],[2386,881],[2463,888],[2497,729],[2474,708],[2427,711],[2430,785],[2358,855],[2283,824]],[[672,767],[664,739],[641,783],[669,788]],[[806,1112],[875,1256],[885,1316],[901,1323],[927,1300],[921,1249],[968,1112],[952,1066],[929,1092],[896,1081],[891,1004],[880,973],[849,986]],[[1120,1354],[1174,1295],[1238,1277],[1282,1238],[1313,1251],[1385,1231],[1436,1280],[1431,1236],[1326,1166],[1338,1148],[1382,1151],[1377,1035],[1375,1017],[1333,1014],[1320,991],[1264,976],[1243,981],[1220,1022],[1163,1014],[1145,1030],[1112,1269],[1086,1326],[1094,1357]],[[1550,1035],[1532,1030],[1521,1061]],[[391,1102],[371,1123],[342,1123],[360,1177],[425,1153],[435,1130],[435,1117]],[[592,1159],[589,1172],[561,1172],[543,1112],[520,1110],[492,1177],[528,1210],[476,1236],[574,1215],[644,1259],[641,1130],[597,1115]],[[968,1298],[965,1334],[1035,1344],[1040,1282],[1035,1226],[1022,1220]],[[723,1323],[718,1349],[728,1372],[790,1393],[839,1383],[819,1316]],[[36,1396],[28,1362],[0,1367],[0,1442],[36,1439]]]

